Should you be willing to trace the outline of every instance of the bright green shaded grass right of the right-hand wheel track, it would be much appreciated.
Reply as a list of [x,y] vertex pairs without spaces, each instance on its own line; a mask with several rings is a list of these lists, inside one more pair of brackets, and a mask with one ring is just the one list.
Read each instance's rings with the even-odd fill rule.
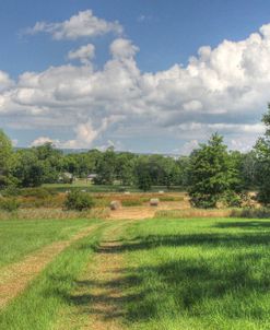
[[127,232],[127,329],[270,329],[270,221],[149,220]]

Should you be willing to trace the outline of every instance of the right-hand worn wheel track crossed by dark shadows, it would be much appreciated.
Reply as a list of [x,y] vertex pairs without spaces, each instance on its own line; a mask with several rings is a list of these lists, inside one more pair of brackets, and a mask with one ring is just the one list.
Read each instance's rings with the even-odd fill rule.
[[[118,240],[124,226],[131,221],[110,227],[103,238],[94,259],[77,282],[71,295],[73,303],[63,311],[56,329],[122,330],[124,260]],[[67,326],[68,325],[68,326]]]

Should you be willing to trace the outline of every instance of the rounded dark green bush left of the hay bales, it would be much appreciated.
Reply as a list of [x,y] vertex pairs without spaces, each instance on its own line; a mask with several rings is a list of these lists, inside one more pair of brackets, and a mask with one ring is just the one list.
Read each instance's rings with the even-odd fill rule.
[[68,193],[64,201],[67,210],[83,211],[93,208],[94,201],[90,195],[79,190],[73,190]]

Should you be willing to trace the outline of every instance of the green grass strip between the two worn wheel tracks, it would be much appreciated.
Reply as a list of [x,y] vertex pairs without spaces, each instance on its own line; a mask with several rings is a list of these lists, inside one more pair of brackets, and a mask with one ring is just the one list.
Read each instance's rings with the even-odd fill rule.
[[71,304],[75,279],[90,262],[107,224],[73,243],[0,314],[0,329],[52,329],[58,311]]

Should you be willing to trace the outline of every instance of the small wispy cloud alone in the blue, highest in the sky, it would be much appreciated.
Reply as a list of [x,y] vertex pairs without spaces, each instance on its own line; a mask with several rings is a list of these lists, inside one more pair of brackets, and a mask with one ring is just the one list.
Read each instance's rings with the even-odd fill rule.
[[107,22],[96,17],[92,10],[79,12],[69,20],[59,23],[37,22],[24,31],[26,34],[48,33],[56,40],[95,37],[107,33],[122,33],[122,26],[117,22]]

